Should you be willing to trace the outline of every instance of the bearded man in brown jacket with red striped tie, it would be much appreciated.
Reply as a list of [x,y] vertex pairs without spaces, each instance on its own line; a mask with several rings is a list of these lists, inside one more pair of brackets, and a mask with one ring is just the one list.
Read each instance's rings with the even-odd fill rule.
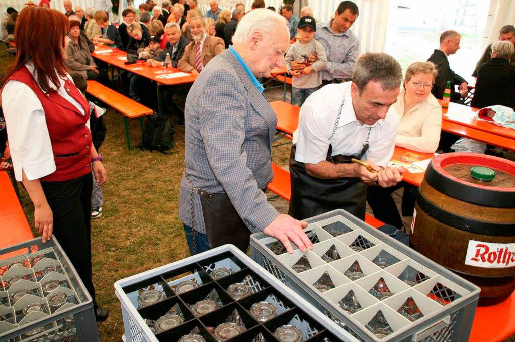
[[207,34],[204,21],[200,17],[191,20],[190,30],[193,41],[184,48],[177,68],[184,73],[198,75],[213,57],[225,50],[225,45],[221,38]]

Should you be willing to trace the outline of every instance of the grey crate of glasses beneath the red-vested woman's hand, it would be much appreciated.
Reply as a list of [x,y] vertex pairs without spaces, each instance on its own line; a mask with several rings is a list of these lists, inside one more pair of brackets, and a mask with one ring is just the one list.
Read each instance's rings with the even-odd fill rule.
[[[49,300],[56,294],[61,299],[65,295],[66,302]],[[24,312],[35,303],[39,310]],[[46,243],[36,238],[0,249],[0,342],[4,341],[99,341],[91,296],[55,236]]]

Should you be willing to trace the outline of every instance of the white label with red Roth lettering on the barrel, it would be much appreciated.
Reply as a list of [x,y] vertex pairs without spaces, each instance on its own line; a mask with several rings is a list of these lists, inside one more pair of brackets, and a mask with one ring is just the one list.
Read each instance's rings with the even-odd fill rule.
[[487,268],[514,267],[515,243],[469,240],[465,264]]

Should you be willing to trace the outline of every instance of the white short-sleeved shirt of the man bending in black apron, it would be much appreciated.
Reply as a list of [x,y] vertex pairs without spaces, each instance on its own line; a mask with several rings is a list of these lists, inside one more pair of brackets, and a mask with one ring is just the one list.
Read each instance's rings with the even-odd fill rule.
[[[307,98],[300,110],[299,127],[293,134],[293,143],[297,146],[295,160],[308,164],[320,163],[326,159],[330,144],[333,147],[332,155],[357,155],[363,149],[371,128],[369,148],[362,159],[370,159],[383,167],[388,164],[395,147],[399,116],[390,107],[386,117],[373,125],[359,123],[350,89],[351,82],[328,84]],[[342,95],[345,98],[344,107],[330,140],[340,114]]]

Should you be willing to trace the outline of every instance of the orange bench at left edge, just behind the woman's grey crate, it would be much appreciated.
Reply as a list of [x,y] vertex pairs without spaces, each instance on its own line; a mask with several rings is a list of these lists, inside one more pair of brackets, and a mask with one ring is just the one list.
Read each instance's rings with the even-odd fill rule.
[[[7,172],[0,172],[0,248],[34,238]],[[22,253],[22,252],[20,252]],[[11,255],[9,255],[11,256]],[[6,256],[2,256],[3,258]]]

